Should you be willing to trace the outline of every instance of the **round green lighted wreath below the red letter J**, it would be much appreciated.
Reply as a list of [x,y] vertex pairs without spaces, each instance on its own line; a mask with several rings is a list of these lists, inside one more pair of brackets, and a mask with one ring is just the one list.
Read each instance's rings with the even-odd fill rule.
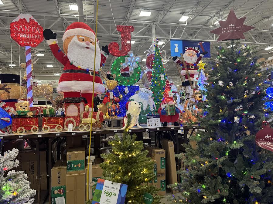
[[134,73],[130,77],[123,77],[120,74],[120,67],[121,67],[121,64],[125,62],[125,57],[128,57],[128,56],[121,56],[115,59],[111,67],[111,74],[112,75],[116,74],[115,80],[118,80],[119,84],[122,84],[124,86],[129,86],[129,85],[135,84],[139,80],[141,68],[138,62],[136,62],[138,64],[138,67],[134,69]]

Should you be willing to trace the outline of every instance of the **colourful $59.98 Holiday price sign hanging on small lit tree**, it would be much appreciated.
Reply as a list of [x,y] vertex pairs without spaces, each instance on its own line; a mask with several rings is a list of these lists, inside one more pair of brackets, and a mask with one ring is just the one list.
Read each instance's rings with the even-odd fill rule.
[[128,186],[98,179],[92,204],[124,204]]

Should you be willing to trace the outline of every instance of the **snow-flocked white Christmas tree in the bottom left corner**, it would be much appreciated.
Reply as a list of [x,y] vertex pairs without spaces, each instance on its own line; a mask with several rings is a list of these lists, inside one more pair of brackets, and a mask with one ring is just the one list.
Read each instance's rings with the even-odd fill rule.
[[19,151],[13,148],[0,155],[0,204],[32,204],[36,190],[30,189],[30,182],[23,171],[7,171],[19,165],[15,160]]

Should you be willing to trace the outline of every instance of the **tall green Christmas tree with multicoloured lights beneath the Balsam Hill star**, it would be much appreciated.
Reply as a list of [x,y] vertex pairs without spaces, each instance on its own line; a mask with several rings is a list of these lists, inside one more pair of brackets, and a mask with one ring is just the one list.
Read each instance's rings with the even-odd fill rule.
[[270,204],[273,200],[273,153],[255,144],[264,114],[266,75],[255,64],[257,50],[241,50],[238,41],[216,48],[207,79],[207,96],[199,118],[206,132],[193,137],[197,147],[184,144],[185,171],[174,185],[180,196],[176,203]]

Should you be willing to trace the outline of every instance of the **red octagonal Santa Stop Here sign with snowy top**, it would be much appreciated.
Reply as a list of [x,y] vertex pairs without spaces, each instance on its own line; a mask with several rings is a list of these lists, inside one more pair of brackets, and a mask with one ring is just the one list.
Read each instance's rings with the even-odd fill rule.
[[29,14],[20,14],[10,24],[10,37],[20,46],[35,48],[43,41],[43,27]]

